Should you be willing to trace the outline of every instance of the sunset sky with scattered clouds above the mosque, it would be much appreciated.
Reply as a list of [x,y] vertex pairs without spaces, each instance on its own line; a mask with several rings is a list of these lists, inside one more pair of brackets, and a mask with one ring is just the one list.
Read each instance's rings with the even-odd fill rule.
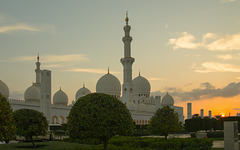
[[96,91],[107,73],[123,80],[126,11],[131,26],[133,78],[152,95],[193,114],[240,112],[240,0],[2,0],[0,80],[10,98],[23,99],[41,69],[52,71],[52,96],[60,87],[69,103],[83,84]]

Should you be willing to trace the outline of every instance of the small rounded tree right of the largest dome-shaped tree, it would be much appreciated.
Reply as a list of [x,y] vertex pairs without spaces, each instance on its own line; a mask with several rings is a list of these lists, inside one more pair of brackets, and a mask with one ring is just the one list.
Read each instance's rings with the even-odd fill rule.
[[165,140],[169,133],[182,130],[181,122],[178,121],[178,114],[169,106],[159,108],[150,119],[148,131],[150,134],[164,135]]

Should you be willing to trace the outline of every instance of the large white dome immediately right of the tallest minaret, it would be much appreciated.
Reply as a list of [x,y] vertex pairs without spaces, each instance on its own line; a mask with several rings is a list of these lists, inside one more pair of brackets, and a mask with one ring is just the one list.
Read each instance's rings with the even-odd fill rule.
[[138,76],[135,79],[133,79],[133,86],[134,86],[134,92],[138,94],[138,96],[146,96],[149,97],[151,85],[148,82],[148,80],[142,76]]

